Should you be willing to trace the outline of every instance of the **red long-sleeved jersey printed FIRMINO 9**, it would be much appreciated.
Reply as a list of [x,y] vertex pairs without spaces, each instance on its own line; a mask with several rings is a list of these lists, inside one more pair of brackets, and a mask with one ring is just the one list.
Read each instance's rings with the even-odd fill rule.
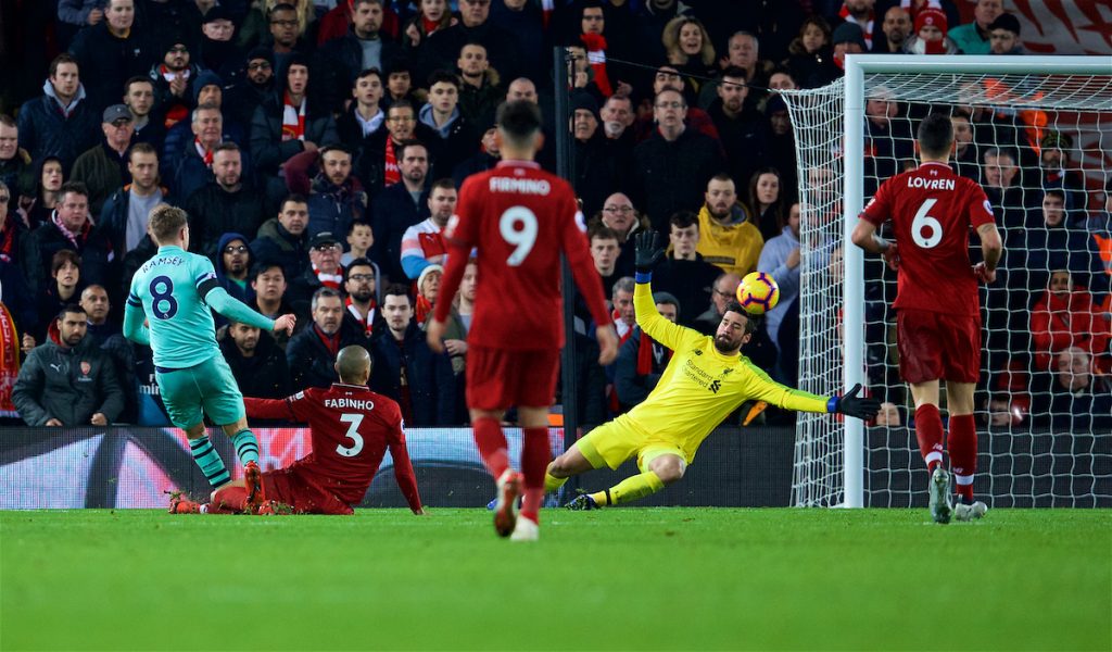
[[467,343],[528,350],[564,345],[560,251],[598,325],[610,323],[572,186],[532,161],[502,161],[464,181],[445,229],[448,256],[436,318],[445,320],[467,253],[478,249]]

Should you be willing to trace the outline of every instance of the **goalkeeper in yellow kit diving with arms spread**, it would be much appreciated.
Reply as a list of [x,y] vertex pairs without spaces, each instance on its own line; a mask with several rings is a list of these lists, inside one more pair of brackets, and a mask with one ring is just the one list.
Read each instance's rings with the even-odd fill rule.
[[742,345],[756,322],[736,303],[726,308],[714,337],[665,319],[653,303],[653,266],[664,255],[655,233],[636,239],[637,287],[633,300],[637,325],[674,354],[656,388],[644,403],[592,431],[548,465],[545,491],[556,491],[568,477],[637,457],[638,475],[567,504],[569,510],[596,510],[643,498],[684,476],[699,444],[719,423],[749,399],[800,412],[841,413],[870,419],[880,403],[858,398],[861,385],[845,395],[817,396],[772,381],[748,358]]

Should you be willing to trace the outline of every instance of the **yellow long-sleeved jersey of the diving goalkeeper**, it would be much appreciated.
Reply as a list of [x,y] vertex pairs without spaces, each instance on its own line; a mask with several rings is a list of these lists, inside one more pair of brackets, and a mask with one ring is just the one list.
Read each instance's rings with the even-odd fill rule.
[[638,283],[633,297],[642,330],[671,348],[673,355],[656,388],[626,414],[626,422],[648,438],[677,444],[688,463],[703,439],[746,401],[827,412],[828,397],[781,385],[749,358],[718,353],[714,337],[662,317],[649,284]]

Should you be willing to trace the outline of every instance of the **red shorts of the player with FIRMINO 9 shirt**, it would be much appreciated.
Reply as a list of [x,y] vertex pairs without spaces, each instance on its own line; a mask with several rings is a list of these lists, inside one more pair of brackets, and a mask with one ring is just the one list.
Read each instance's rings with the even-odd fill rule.
[[547,407],[556,396],[559,349],[467,348],[467,407]]

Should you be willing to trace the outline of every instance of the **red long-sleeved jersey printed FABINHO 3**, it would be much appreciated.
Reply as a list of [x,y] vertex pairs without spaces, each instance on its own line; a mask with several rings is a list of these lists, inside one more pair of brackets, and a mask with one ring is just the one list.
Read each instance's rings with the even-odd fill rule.
[[288,398],[244,398],[244,406],[252,418],[308,423],[312,451],[290,468],[351,506],[363,501],[389,447],[398,487],[411,510],[420,508],[401,411],[390,398],[364,386],[332,383],[328,389],[309,387]]

